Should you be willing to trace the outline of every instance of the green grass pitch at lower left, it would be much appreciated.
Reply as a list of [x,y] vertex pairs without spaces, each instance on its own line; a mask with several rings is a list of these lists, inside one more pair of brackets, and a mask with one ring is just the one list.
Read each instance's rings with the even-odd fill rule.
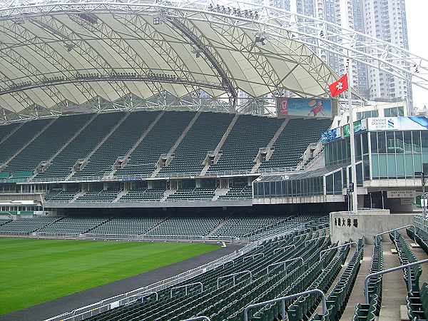
[[217,249],[199,243],[0,238],[0,315]]

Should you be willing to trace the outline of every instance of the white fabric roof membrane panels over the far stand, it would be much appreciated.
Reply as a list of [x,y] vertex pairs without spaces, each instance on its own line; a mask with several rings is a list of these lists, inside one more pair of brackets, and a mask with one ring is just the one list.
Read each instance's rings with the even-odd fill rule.
[[174,6],[161,12],[144,2],[0,9],[0,107],[58,111],[94,98],[180,98],[199,89],[213,97],[327,97],[337,76],[285,31],[256,43],[258,21]]

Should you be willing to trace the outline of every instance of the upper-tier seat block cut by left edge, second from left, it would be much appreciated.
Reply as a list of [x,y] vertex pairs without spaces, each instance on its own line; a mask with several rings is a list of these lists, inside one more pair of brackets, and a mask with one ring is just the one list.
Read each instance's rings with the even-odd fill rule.
[[[0,165],[14,156],[14,154],[28,143],[31,138],[42,131],[44,126],[46,126],[50,121],[52,120],[40,119],[38,121],[29,121],[21,126],[18,131],[9,136],[6,141],[0,143]],[[9,172],[9,170],[6,171]]]

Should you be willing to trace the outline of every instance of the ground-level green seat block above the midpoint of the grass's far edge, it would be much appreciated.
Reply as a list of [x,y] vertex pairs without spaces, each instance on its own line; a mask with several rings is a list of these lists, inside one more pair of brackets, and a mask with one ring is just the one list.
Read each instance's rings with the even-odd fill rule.
[[162,218],[112,218],[89,234],[141,235],[162,222]]

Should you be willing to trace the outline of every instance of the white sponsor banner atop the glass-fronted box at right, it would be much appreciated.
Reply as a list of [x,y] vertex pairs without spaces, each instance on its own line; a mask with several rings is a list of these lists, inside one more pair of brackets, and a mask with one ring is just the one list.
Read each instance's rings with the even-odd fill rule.
[[414,117],[377,117],[367,118],[369,131],[427,131],[428,118]]

